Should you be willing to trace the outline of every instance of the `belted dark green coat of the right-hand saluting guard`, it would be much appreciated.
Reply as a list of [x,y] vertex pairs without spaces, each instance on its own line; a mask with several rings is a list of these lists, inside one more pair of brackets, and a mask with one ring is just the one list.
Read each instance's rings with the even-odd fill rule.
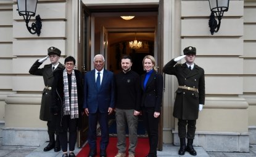
[[173,116],[183,120],[196,120],[198,118],[199,104],[204,104],[205,101],[204,69],[194,64],[194,68],[191,71],[186,63],[176,63],[174,59],[171,59],[163,67],[163,72],[175,75],[179,86],[197,88],[198,92],[178,88],[176,90]]

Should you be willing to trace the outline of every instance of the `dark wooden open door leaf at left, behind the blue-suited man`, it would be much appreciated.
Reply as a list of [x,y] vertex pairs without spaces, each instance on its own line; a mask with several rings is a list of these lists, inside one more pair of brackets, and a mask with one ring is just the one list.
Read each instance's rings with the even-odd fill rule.
[[[85,72],[91,70],[91,13],[85,4],[80,1],[80,29],[78,43],[78,70],[85,75]],[[84,114],[78,128],[77,146],[83,147],[87,140],[88,117]]]

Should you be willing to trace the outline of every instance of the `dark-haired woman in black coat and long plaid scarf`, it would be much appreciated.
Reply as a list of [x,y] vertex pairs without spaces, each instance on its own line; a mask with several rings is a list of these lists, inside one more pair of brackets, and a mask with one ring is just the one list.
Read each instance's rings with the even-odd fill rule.
[[[74,157],[76,129],[81,117],[83,103],[82,75],[74,70],[75,58],[65,58],[65,69],[54,72],[51,113],[56,120],[62,157]],[[69,155],[67,153],[67,131],[69,132]]]

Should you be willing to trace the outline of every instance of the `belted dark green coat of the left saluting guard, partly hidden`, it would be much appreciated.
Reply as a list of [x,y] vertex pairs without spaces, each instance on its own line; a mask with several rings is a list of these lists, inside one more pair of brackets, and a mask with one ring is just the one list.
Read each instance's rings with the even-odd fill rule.
[[[44,86],[50,86],[52,87],[52,83],[54,80],[53,74],[52,74],[52,64],[46,64],[43,68],[39,68],[43,63],[39,63],[38,60],[30,67],[29,73],[32,75],[40,75],[43,76],[44,79]],[[59,63],[59,65],[54,69],[54,71],[59,71],[61,69],[64,69],[64,65]],[[40,109],[40,120],[43,121],[51,121],[52,116],[50,113],[50,104],[52,103],[51,98],[51,90],[46,90],[44,88],[42,100],[41,100],[41,109]]]

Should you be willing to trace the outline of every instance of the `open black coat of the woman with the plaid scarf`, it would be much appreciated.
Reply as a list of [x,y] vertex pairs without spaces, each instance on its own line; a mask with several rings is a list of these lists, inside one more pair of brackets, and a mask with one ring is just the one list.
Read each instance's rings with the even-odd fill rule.
[[[62,131],[62,117],[64,116],[64,82],[63,82],[63,71],[54,71],[54,83],[52,84],[52,104],[51,113],[54,117],[54,121],[57,124],[57,131]],[[81,118],[81,113],[83,112],[83,82],[82,74],[80,71],[75,70],[76,86],[77,86],[77,96],[78,96],[78,111],[79,117]],[[57,115],[53,115],[57,113]]]

